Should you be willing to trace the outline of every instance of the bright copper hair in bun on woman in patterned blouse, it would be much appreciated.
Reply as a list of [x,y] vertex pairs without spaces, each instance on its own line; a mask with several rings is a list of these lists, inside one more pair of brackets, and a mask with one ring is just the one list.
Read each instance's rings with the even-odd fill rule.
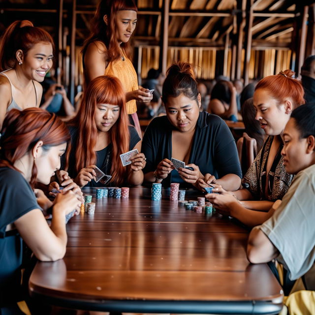
[[294,74],[292,70],[285,70],[269,75],[257,83],[255,91],[266,89],[279,103],[283,103],[285,98],[291,98],[294,109],[305,103],[303,86],[294,78]]

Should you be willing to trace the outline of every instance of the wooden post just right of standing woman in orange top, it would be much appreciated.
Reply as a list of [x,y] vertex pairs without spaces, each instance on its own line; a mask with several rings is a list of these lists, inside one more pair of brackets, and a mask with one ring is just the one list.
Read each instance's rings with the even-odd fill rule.
[[159,52],[159,64],[161,67],[162,73],[166,73],[167,67],[167,50],[168,50],[168,22],[169,22],[169,0],[163,1],[162,8],[162,25],[163,32],[161,32],[161,44],[160,44],[160,52]]

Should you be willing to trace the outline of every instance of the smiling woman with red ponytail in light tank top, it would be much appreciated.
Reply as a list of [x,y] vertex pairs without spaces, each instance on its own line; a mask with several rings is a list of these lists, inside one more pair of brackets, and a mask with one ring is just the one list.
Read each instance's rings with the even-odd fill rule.
[[32,25],[15,21],[0,40],[0,126],[12,108],[39,107],[39,82],[53,65],[54,42],[50,34]]

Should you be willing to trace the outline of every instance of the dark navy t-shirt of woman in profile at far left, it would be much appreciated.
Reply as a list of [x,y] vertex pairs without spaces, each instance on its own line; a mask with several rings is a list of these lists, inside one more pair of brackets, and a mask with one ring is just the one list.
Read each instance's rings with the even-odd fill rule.
[[18,171],[0,168],[0,307],[18,298],[22,238],[6,226],[33,209],[40,209],[29,183]]

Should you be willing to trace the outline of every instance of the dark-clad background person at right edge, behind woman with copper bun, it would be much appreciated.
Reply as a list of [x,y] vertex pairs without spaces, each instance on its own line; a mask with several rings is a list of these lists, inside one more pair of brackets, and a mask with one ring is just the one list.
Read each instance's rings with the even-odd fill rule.
[[315,103],[315,55],[305,59],[301,67],[302,85],[307,103]]

